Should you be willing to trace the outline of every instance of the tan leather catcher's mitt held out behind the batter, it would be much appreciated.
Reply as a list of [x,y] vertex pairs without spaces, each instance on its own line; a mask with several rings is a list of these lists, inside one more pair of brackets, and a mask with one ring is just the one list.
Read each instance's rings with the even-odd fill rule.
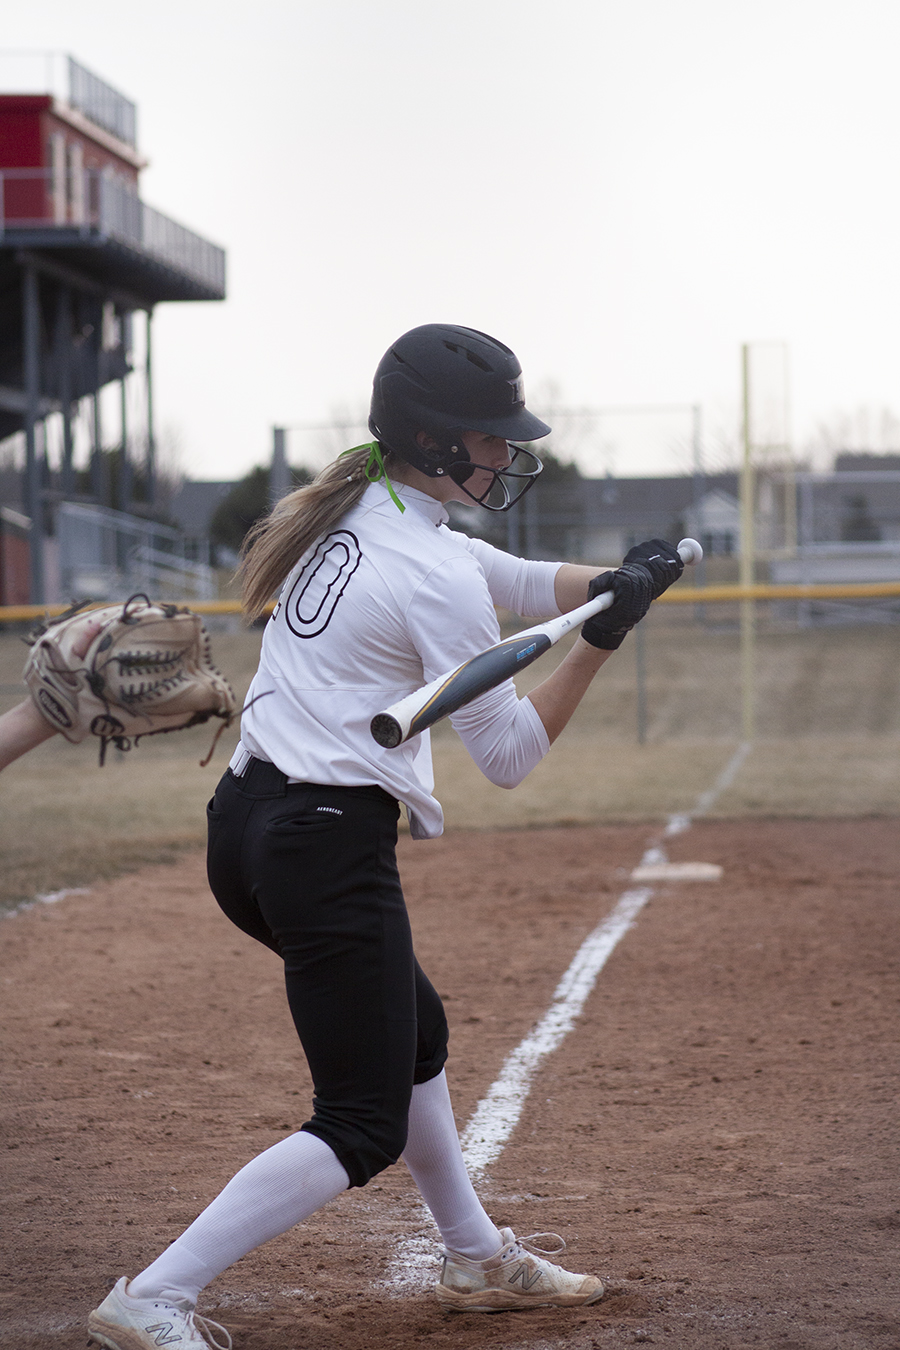
[[101,764],[111,741],[127,751],[142,736],[210,717],[223,720],[223,732],[235,717],[235,695],[212,664],[202,620],[182,606],[132,595],[124,605],[70,609],[30,641],[24,680],[35,706],[74,744],[99,736]]

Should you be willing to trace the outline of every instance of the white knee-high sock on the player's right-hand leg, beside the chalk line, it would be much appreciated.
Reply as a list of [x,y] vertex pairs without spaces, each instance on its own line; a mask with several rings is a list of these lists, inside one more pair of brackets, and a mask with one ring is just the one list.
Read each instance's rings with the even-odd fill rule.
[[413,1088],[403,1162],[451,1251],[470,1261],[484,1261],[499,1251],[503,1239],[466,1170],[443,1071]]

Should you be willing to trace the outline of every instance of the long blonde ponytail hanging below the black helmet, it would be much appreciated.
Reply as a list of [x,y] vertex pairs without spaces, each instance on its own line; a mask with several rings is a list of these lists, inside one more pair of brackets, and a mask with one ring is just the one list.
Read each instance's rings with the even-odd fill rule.
[[[385,467],[390,464],[385,454]],[[362,498],[370,482],[372,447],[360,446],[322,468],[306,487],[297,487],[250,529],[242,547],[239,575],[247,618],[259,618],[298,558],[327,535]]]

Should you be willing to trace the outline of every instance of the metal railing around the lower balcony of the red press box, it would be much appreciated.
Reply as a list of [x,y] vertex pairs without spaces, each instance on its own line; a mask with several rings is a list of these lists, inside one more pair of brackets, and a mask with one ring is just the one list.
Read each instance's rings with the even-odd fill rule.
[[9,231],[78,230],[115,239],[220,294],[225,252],[96,169],[0,169],[0,243]]

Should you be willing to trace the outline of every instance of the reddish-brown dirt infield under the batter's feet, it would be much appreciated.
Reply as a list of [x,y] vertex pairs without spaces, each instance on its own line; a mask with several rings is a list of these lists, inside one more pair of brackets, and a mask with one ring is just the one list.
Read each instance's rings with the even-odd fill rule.
[[[460,1125],[652,841],[401,841]],[[420,1224],[398,1166],[215,1281],[236,1350],[896,1350],[897,821],[700,821],[667,848],[723,880],[654,888],[483,1187],[607,1297],[453,1318],[383,1287]],[[92,1304],[302,1122],[309,1080],[278,964],[198,853],[5,918],[0,944],[0,1347],[84,1350]]]

